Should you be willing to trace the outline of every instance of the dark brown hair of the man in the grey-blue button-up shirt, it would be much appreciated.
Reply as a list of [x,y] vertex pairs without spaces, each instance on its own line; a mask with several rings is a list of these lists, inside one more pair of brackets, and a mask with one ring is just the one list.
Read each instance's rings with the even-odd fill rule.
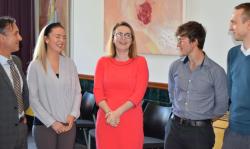
[[198,48],[203,49],[206,38],[206,30],[202,24],[195,21],[189,21],[179,26],[175,35],[186,36],[191,42],[194,42],[197,39]]

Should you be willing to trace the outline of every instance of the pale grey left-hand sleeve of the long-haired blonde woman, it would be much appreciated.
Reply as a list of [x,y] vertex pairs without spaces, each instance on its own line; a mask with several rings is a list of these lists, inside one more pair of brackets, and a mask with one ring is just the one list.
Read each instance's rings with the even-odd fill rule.
[[29,87],[29,100],[32,111],[35,116],[41,120],[44,125],[50,127],[56,120],[43,108],[39,99],[39,72],[37,72],[38,63],[32,62],[29,65],[27,73],[27,82]]

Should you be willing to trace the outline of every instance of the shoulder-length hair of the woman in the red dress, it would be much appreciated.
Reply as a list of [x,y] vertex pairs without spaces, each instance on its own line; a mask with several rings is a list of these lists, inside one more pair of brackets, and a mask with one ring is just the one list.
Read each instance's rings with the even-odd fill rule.
[[134,57],[137,56],[137,47],[136,47],[136,41],[135,41],[135,33],[134,33],[134,30],[133,30],[132,26],[129,25],[127,22],[124,22],[124,21],[117,23],[113,27],[113,29],[112,29],[112,32],[110,34],[110,37],[109,37],[109,40],[108,40],[108,43],[107,43],[107,53],[108,53],[108,56],[115,57],[116,54],[117,54],[116,53],[116,47],[115,47],[115,44],[113,43],[113,40],[114,40],[115,31],[120,26],[126,26],[131,31],[132,43],[131,43],[131,45],[129,47],[128,56],[129,56],[129,58],[134,58]]

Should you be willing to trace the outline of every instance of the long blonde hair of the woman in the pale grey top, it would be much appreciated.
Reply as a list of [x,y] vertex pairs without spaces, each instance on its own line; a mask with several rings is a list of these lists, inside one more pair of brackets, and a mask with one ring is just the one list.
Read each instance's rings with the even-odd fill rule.
[[[38,60],[41,62],[45,72],[47,72],[47,64],[46,64],[46,59],[47,59],[47,44],[44,40],[45,37],[49,36],[49,33],[51,33],[53,28],[56,27],[61,27],[64,29],[64,27],[60,23],[51,23],[49,25],[46,25],[40,32],[36,46],[34,49],[34,54],[33,54],[33,61]],[[62,51],[61,55],[65,55],[65,49]]]

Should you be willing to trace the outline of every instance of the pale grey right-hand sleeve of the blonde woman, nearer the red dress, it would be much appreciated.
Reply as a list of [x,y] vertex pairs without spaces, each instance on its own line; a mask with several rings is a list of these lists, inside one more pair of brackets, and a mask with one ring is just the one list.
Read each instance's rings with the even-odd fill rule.
[[80,116],[80,106],[81,106],[81,86],[80,86],[80,81],[78,77],[78,72],[76,69],[76,66],[74,62],[72,61],[72,67],[73,67],[73,81],[74,81],[74,101],[73,101],[73,107],[71,111],[71,115],[73,115],[76,119]]

